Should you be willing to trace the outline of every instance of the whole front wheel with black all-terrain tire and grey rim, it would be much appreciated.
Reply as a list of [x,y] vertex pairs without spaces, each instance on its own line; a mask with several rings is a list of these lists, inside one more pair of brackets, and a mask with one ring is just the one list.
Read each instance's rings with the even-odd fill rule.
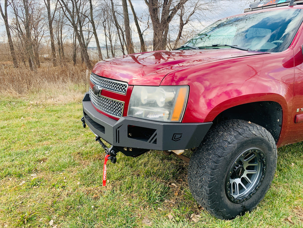
[[243,120],[212,127],[190,158],[189,189],[210,214],[232,219],[264,198],[275,174],[277,147],[264,128]]

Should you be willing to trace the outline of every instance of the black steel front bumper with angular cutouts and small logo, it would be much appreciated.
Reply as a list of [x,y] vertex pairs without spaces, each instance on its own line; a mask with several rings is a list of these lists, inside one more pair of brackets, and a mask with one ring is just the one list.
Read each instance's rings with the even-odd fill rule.
[[179,150],[197,147],[212,125],[212,122],[166,123],[128,116],[117,121],[95,110],[89,92],[84,95],[82,104],[84,121],[92,132],[127,156],[139,154],[135,148]]

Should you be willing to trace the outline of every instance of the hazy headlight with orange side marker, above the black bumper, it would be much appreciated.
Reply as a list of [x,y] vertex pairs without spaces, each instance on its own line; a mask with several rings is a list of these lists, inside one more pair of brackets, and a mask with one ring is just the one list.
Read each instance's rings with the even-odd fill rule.
[[128,116],[180,122],[188,98],[188,86],[134,86]]

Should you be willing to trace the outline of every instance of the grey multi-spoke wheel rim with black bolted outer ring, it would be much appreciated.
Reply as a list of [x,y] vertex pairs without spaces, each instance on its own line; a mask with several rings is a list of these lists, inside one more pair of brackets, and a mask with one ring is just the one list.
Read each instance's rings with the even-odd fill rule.
[[266,170],[264,153],[259,148],[241,152],[231,163],[225,180],[225,191],[230,201],[242,203],[254,195]]

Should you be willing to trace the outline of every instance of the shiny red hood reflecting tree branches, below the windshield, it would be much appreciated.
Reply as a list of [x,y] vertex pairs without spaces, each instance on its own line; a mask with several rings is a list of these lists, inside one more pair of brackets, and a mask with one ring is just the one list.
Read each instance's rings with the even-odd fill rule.
[[183,67],[264,53],[231,48],[144,52],[100,61],[92,72],[129,85],[159,86],[165,75]]

